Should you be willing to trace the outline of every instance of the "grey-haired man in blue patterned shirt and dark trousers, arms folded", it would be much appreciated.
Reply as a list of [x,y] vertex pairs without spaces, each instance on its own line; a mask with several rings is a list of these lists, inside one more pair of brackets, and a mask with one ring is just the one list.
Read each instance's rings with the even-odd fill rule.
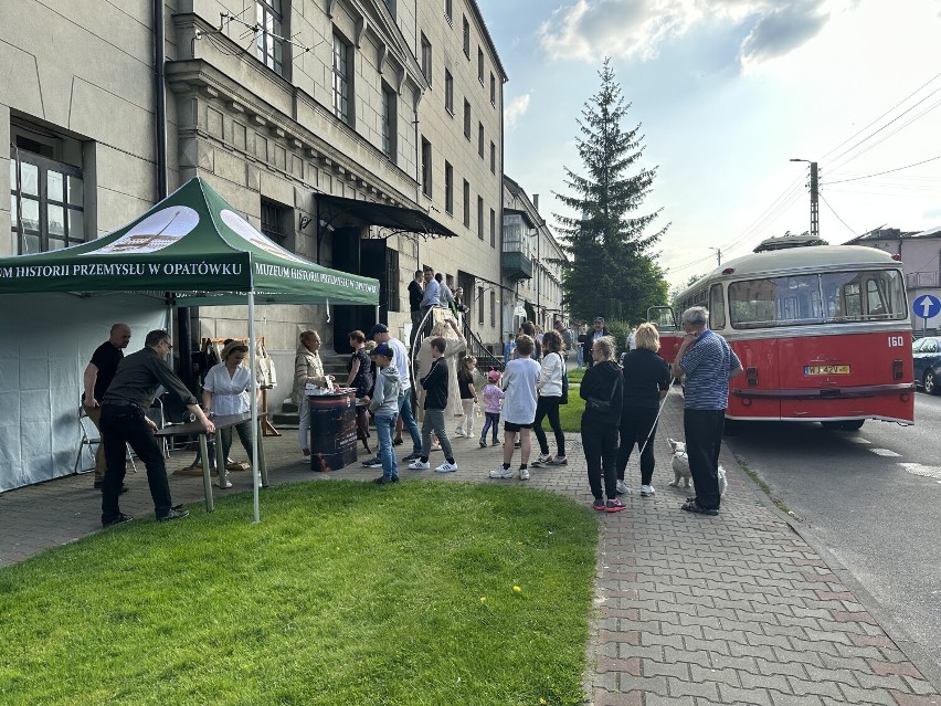
[[742,363],[719,334],[709,330],[709,310],[694,306],[683,313],[686,336],[676,354],[673,375],[686,376],[683,425],[689,471],[696,497],[683,506],[687,513],[718,515],[719,450],[729,403],[729,380],[740,376]]

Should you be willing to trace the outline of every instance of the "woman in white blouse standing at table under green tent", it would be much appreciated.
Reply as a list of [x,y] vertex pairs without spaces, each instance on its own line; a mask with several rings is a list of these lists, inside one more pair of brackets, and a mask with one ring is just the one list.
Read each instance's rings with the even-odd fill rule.
[[[214,417],[251,411],[249,390],[252,388],[252,371],[242,365],[247,355],[249,346],[241,340],[233,340],[222,349],[222,362],[212,366],[205,373],[205,382],[202,384],[203,410]],[[232,429],[226,426],[219,431],[225,459],[229,459],[229,450],[232,449]],[[252,459],[252,421],[235,424],[234,429],[239,432],[239,440],[249,459]]]

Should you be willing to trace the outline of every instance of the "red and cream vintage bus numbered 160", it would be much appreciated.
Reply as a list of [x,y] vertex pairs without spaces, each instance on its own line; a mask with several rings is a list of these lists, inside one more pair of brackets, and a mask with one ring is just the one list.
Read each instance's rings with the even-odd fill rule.
[[[901,264],[874,247],[794,247],[732,260],[676,301],[709,309],[746,375],[729,384],[727,419],[914,421],[911,318]],[[652,312],[660,319],[666,312]],[[676,356],[681,330],[660,337]]]

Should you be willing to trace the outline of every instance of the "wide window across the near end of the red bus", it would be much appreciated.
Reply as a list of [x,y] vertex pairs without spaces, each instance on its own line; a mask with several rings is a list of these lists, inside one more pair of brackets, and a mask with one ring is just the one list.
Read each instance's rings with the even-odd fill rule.
[[897,270],[746,280],[729,284],[733,328],[898,320],[908,316]]

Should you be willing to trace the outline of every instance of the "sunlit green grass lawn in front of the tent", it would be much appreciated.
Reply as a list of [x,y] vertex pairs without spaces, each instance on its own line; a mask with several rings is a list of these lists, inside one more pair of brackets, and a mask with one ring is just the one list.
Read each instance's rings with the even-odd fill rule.
[[0,569],[0,703],[582,703],[586,508],[345,481],[264,508],[252,525],[251,495],[223,498]]

